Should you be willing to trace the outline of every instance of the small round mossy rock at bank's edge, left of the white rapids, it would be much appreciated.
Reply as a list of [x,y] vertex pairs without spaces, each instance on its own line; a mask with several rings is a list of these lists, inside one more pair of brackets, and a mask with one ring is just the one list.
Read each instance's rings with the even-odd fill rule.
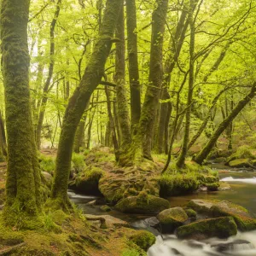
[[130,240],[147,252],[148,248],[154,245],[155,236],[147,230],[139,230],[130,237]]

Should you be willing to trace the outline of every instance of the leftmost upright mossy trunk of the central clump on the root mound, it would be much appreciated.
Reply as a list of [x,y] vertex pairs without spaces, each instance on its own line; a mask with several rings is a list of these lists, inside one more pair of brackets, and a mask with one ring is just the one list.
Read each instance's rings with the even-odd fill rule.
[[127,153],[127,150],[131,147],[131,123],[125,90],[125,17],[123,4],[120,10],[115,35],[116,38],[119,39],[115,48],[115,81],[117,84],[116,99],[121,135],[119,145],[120,150]]

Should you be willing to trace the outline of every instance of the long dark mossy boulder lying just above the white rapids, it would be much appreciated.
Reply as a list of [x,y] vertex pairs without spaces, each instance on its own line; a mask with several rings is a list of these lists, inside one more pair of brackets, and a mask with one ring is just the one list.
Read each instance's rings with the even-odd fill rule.
[[237,226],[232,217],[204,219],[187,224],[177,229],[177,237],[181,239],[202,240],[210,237],[228,238],[235,236]]

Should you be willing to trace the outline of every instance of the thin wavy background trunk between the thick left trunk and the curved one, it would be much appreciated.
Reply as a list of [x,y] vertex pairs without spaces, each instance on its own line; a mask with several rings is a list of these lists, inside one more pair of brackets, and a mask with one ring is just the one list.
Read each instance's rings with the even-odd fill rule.
[[42,127],[44,123],[44,113],[45,113],[45,108],[48,102],[48,96],[47,94],[49,93],[49,84],[52,79],[53,71],[54,71],[54,55],[55,55],[55,26],[57,19],[60,15],[61,11],[61,0],[58,0],[56,3],[56,9],[55,9],[55,16],[54,19],[51,21],[50,24],[50,29],[49,29],[49,37],[50,37],[50,47],[49,47],[49,71],[48,71],[48,77],[46,79],[46,82],[44,84],[44,95],[43,99],[39,108],[39,114],[38,114],[38,126],[37,126],[37,133],[36,133],[36,141],[37,141],[37,147],[40,149],[41,147],[41,132],[42,132]]

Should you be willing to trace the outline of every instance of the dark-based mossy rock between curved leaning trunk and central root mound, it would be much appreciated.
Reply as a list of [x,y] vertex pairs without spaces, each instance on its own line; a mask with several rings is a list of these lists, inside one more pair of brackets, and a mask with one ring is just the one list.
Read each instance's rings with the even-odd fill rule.
[[84,194],[101,195],[99,190],[99,180],[103,177],[104,172],[101,168],[91,166],[84,172],[80,172],[70,188]]

